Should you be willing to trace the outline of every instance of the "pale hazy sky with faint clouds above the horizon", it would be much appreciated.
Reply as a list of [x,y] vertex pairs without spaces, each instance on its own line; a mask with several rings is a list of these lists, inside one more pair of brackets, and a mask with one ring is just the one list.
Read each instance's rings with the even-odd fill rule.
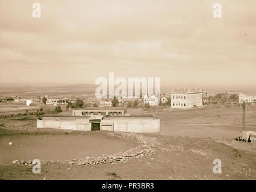
[[94,84],[114,72],[161,77],[163,86],[256,89],[255,0],[0,2],[1,84]]

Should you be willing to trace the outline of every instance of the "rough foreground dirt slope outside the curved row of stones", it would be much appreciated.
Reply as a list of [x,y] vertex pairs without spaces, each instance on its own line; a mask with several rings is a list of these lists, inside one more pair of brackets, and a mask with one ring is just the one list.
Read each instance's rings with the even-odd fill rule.
[[[80,134],[83,135],[70,133],[68,137]],[[41,174],[34,174],[31,166],[1,165],[0,179],[256,179],[256,153],[237,150],[212,139],[147,136],[160,142],[151,157],[94,166],[43,164]],[[214,159],[222,161],[222,174],[213,173]]]

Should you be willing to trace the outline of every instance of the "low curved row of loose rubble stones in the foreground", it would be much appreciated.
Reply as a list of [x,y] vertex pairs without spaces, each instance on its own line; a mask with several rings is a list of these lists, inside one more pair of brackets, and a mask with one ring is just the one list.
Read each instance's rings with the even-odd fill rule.
[[[143,136],[136,133],[121,133],[121,132],[112,132],[109,134],[112,137],[120,137],[126,139],[136,139],[139,142],[139,146],[136,148],[132,148],[126,152],[118,152],[113,155],[102,155],[101,157],[85,157],[83,159],[73,159],[73,160],[41,160],[43,164],[55,164],[55,163],[68,163],[70,165],[90,165],[93,166],[95,164],[106,164],[112,163],[115,164],[117,162],[126,162],[131,158],[140,158],[144,155],[154,155],[155,154],[155,145],[159,145],[160,143],[157,141],[155,137]],[[19,164],[21,166],[28,165],[31,166],[33,164],[32,160],[14,160],[13,164]]]

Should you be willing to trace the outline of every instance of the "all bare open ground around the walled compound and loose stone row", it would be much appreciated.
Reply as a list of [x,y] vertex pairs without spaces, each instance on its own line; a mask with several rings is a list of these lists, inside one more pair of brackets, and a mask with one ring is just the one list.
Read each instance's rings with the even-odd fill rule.
[[[127,113],[142,111],[129,109]],[[137,144],[134,140],[108,138],[105,131],[37,130],[36,119],[0,119],[0,124],[5,126],[0,131],[0,160],[4,162],[0,164],[0,179],[256,179],[256,144],[235,140],[242,130],[239,106],[144,113],[155,113],[161,122],[160,133],[144,134],[159,142],[151,157],[94,166],[42,164],[41,174],[32,173],[31,166],[10,164],[10,161],[112,154]],[[11,130],[8,122],[17,126],[31,124],[31,128]],[[256,106],[246,106],[246,130],[255,131],[255,123]],[[8,142],[13,144],[10,146]],[[222,174],[213,173],[214,159],[222,161]]]

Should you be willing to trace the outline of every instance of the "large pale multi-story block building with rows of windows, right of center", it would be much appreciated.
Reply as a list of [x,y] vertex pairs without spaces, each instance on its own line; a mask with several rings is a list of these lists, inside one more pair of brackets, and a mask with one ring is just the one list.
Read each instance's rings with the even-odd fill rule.
[[171,108],[191,108],[202,106],[202,89],[172,89],[170,93]]

